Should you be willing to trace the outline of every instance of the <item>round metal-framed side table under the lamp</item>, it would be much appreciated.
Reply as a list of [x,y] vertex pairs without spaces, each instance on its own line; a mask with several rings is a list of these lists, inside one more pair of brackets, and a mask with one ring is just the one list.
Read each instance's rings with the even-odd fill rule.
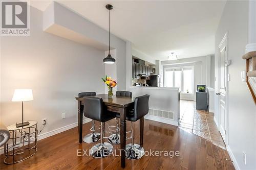
[[6,164],[13,164],[24,161],[33,156],[37,145],[37,122],[29,120],[29,125],[24,127],[16,127],[12,124],[7,127],[11,137],[9,142],[5,144],[5,159]]

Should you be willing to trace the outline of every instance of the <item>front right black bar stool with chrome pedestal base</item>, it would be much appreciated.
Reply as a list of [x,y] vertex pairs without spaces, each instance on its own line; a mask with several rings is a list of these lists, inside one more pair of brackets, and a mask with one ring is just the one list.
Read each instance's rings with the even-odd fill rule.
[[126,144],[125,147],[125,157],[127,159],[140,159],[144,155],[144,148],[140,144],[134,143],[134,122],[139,120],[141,117],[145,116],[148,113],[148,100],[150,95],[142,95],[134,100],[134,109],[129,111],[126,116],[126,120],[132,122],[132,143]]

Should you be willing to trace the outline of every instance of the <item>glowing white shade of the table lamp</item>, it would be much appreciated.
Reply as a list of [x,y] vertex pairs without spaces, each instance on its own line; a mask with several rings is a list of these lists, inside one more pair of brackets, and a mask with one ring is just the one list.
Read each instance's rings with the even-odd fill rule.
[[33,101],[32,89],[15,89],[12,102]]

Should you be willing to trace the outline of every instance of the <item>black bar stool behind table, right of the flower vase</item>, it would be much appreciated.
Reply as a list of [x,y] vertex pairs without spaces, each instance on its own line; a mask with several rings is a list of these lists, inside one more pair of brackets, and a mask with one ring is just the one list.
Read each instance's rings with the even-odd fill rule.
[[[128,96],[128,97],[131,97],[132,98],[132,92],[130,91],[116,91],[116,96]],[[117,117],[119,117],[119,114],[116,115]],[[118,126],[119,124],[119,119],[118,118],[115,118],[116,119],[116,126],[109,126],[109,130],[112,131],[112,132],[115,132],[114,134],[110,135],[108,140],[110,143],[112,144],[120,144],[120,128]],[[112,130],[112,128],[115,128],[116,130]]]

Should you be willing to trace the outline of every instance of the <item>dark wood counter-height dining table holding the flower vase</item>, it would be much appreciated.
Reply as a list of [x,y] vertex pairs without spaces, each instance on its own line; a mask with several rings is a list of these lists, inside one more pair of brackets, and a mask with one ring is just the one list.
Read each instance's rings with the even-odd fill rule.
[[[120,114],[120,150],[121,150],[121,167],[125,167],[125,145],[126,145],[126,112],[133,108],[134,98],[127,96],[116,96],[109,98],[108,94],[97,94],[95,98],[102,98],[106,110]],[[78,139],[82,143],[82,119],[83,119],[83,98],[76,98],[78,104]],[[143,128],[144,118],[140,118],[140,145],[143,145]]]

